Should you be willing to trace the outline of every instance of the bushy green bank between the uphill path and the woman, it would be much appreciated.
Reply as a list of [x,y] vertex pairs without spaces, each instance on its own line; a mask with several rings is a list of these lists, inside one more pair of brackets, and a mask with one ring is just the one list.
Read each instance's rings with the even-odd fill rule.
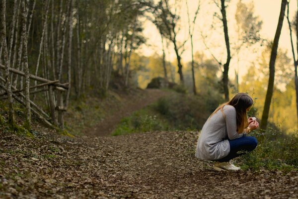
[[[112,135],[156,131],[198,130],[211,114],[210,100],[200,96],[172,93],[157,102],[125,117]],[[214,102],[213,102],[214,103]],[[214,103],[217,106],[218,103]]]

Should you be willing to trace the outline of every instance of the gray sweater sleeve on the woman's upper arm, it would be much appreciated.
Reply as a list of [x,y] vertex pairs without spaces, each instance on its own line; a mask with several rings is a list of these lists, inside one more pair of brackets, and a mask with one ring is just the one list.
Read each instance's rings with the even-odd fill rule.
[[224,115],[228,138],[230,140],[238,138],[239,134],[237,132],[236,109],[233,106],[226,105],[226,107],[224,107]]

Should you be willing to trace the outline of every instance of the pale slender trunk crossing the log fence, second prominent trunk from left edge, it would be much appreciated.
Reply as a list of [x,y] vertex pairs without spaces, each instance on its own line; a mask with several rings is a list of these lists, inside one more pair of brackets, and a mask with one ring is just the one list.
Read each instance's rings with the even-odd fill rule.
[[21,2],[22,7],[22,40],[23,40],[23,53],[22,60],[24,63],[24,74],[25,74],[25,104],[26,104],[26,120],[25,128],[29,131],[31,129],[31,107],[30,107],[30,79],[29,79],[29,68],[28,68],[28,55],[27,55],[27,28],[26,28],[26,8],[25,0]]

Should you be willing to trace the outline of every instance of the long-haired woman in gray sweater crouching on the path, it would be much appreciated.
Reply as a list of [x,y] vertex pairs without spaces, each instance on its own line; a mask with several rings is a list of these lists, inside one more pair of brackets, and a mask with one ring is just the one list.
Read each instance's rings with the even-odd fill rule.
[[230,160],[254,150],[257,139],[246,136],[258,128],[255,118],[247,119],[247,111],[253,100],[245,93],[238,93],[230,101],[220,105],[205,122],[197,143],[196,157],[216,161],[218,171],[240,170]]

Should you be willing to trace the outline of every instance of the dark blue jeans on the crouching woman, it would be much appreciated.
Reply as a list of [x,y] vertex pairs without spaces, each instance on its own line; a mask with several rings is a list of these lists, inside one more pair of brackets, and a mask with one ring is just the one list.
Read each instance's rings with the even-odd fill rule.
[[218,160],[219,162],[228,162],[233,158],[254,150],[258,145],[257,139],[252,136],[239,137],[234,140],[228,140],[228,142],[230,144],[230,152],[227,156]]

